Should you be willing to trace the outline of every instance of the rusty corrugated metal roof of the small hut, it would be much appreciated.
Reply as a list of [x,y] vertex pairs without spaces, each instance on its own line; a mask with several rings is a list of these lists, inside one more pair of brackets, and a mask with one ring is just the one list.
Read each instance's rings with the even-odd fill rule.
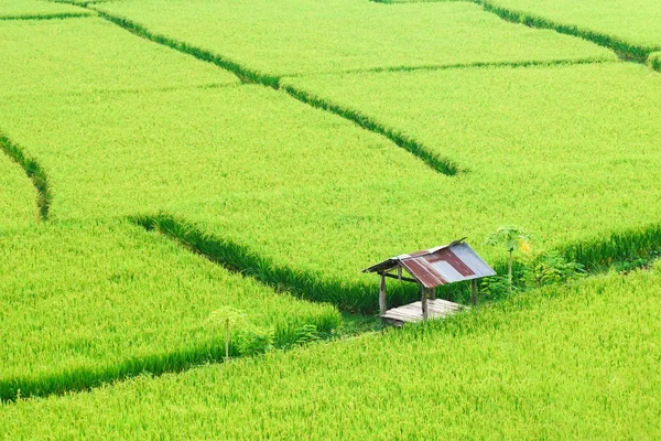
[[496,271],[464,243],[455,240],[448,245],[422,251],[400,255],[383,260],[362,272],[388,272],[404,268],[425,288],[495,276]]

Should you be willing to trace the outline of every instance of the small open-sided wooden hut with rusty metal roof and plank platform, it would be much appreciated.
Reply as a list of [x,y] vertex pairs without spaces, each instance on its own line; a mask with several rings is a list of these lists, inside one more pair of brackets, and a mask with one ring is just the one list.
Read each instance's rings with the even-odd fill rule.
[[[381,276],[379,308],[383,319],[404,323],[427,319],[442,319],[460,310],[460,304],[436,299],[436,287],[472,281],[473,304],[477,303],[477,279],[495,276],[496,271],[464,241],[410,252],[372,265],[362,272]],[[418,283],[421,287],[420,302],[388,310],[386,301],[386,279],[397,279]]]

